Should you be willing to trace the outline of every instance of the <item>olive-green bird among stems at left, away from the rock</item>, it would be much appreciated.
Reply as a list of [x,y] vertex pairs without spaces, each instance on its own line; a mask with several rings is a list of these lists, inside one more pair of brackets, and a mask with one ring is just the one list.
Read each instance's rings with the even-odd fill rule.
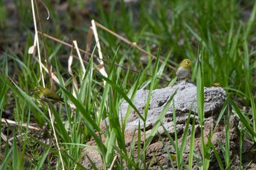
[[45,102],[51,102],[55,104],[58,101],[64,102],[63,98],[61,98],[58,94],[56,94],[53,90],[50,90],[48,88],[44,88],[40,85],[34,88],[34,91],[36,91],[39,98],[41,98],[42,101]]

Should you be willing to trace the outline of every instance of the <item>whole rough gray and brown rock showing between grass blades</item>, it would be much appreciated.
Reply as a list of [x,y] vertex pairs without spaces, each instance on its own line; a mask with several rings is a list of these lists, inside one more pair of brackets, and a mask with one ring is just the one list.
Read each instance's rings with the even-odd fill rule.
[[[150,107],[148,109],[148,116],[146,120],[146,138],[148,138],[148,134],[150,133],[151,128],[153,127],[155,121],[157,120],[157,117],[159,117],[163,107],[165,107],[167,100],[175,92],[176,94],[173,97],[173,101],[176,109],[176,124],[177,124],[176,129],[174,129],[174,124],[173,124],[173,104],[171,104],[170,109],[168,109],[168,111],[166,112],[165,118],[162,120],[162,125],[165,126],[170,136],[174,136],[174,131],[177,131],[178,142],[180,146],[182,137],[183,137],[182,134],[184,132],[186,121],[189,115],[189,110],[191,109],[192,115],[196,115],[195,116],[196,117],[195,151],[198,153],[199,157],[201,157],[200,152],[202,147],[201,147],[200,125],[198,124],[198,118],[197,118],[197,87],[192,83],[181,82],[178,85],[173,86],[172,88],[162,88],[162,89],[157,89],[153,91],[153,93],[151,94]],[[206,119],[203,127],[203,131],[204,131],[203,138],[205,143],[208,141],[209,134],[213,133],[214,126],[217,123],[219,112],[222,109],[226,96],[227,95],[225,93],[225,90],[223,90],[222,88],[204,88],[204,102],[205,102],[204,112],[205,112]],[[147,98],[148,98],[148,90],[138,90],[138,92],[136,93],[133,104],[135,104],[135,107],[138,108],[140,113],[144,112]],[[126,101],[124,101],[123,104],[121,104],[121,107],[119,109],[120,121],[121,121],[121,117],[123,117],[123,120],[124,120],[124,117],[127,114],[128,107],[129,107],[129,104],[127,104]],[[211,143],[214,144],[214,147],[216,148],[217,152],[219,152],[219,156],[221,157],[222,161],[224,161],[224,158],[223,158],[221,146],[219,145],[219,143],[222,143],[223,146],[225,146],[225,135],[226,135],[225,134],[225,129],[226,129],[225,117],[226,115],[222,117],[221,121],[219,122],[219,125],[217,125],[217,128],[214,131],[214,135],[211,138]],[[140,117],[138,117],[138,114],[132,109],[132,112],[129,115],[127,126],[125,128],[125,142],[127,144],[128,152],[129,152],[130,143],[132,142],[132,138],[134,137],[134,135],[135,135],[135,139],[138,139],[136,136],[138,136],[139,122],[140,122],[140,125],[143,125],[143,121],[140,120]],[[190,122],[192,124],[192,118]],[[191,131],[190,129],[191,127],[192,125],[189,125],[189,131]],[[103,129],[105,128],[105,124],[103,123],[102,123],[102,128]],[[239,157],[238,157],[239,137],[236,129],[236,119],[234,115],[230,115],[229,128],[230,128],[230,153],[229,154],[230,154],[230,160],[233,159],[231,168],[236,169],[238,168],[238,165],[239,165]],[[159,134],[161,134],[163,141],[165,142],[165,147],[168,148],[170,152],[175,153],[176,151],[172,146],[172,144],[170,144],[169,139],[167,139],[167,136],[163,131],[162,126],[159,126],[158,132]],[[140,134],[143,134],[143,133],[140,133]],[[183,157],[184,163],[187,165],[189,160],[189,140],[190,140],[190,134],[187,137],[187,146],[185,147],[184,157]],[[135,143],[136,143],[135,145],[136,150],[134,151],[133,155],[135,155],[136,157],[138,141],[135,141]],[[88,144],[94,145],[94,141],[91,141]],[[150,169],[160,169],[157,161],[159,161],[159,163],[162,164],[163,168],[171,169],[171,164],[170,164],[167,152],[165,150],[165,147],[163,143],[159,140],[159,137],[156,134],[151,144],[148,146],[148,150],[146,150],[147,161],[151,161],[151,158],[155,156],[153,163],[151,163]],[[86,148],[85,154],[89,158],[91,158],[91,161],[96,163],[98,169],[102,169],[102,161],[99,154],[93,152],[89,148]],[[86,157],[84,158],[82,164],[89,169],[91,168],[90,163]],[[195,159],[193,162],[193,169],[198,169]],[[219,169],[219,164],[217,163],[217,159],[214,156],[214,152],[211,152],[211,155],[210,155],[209,169]]]

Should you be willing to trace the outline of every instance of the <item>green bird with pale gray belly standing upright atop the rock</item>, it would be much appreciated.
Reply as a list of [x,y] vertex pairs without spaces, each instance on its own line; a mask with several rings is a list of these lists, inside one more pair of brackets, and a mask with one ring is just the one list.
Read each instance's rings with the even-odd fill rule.
[[178,66],[176,76],[179,80],[186,79],[191,71],[191,65],[193,61],[184,59]]

